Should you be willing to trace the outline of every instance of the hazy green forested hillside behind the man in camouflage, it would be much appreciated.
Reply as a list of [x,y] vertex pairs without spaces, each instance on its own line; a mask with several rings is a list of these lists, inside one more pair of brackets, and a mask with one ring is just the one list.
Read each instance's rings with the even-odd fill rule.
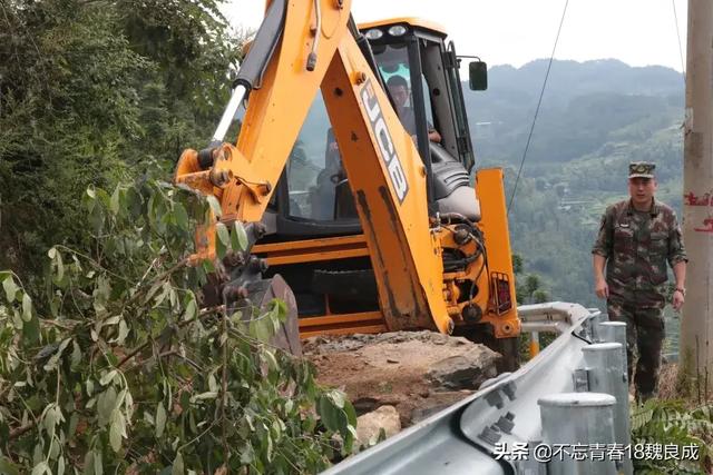
[[[507,168],[508,200],[546,68],[495,67],[488,91],[466,92],[479,166]],[[683,93],[682,76],[662,67],[554,62],[509,215],[524,271],[551,299],[603,307],[589,249],[606,205],[626,196],[629,161],[655,161],[658,197],[680,210]]]

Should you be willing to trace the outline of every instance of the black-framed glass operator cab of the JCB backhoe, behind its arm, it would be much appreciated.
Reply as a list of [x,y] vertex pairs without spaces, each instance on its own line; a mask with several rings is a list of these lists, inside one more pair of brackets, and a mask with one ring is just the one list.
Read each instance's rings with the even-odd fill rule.
[[[424,162],[429,214],[458,212],[479,220],[469,175],[473,150],[453,43],[446,44],[440,26],[419,19],[383,20],[360,30]],[[472,75],[470,79],[473,88]],[[266,221],[272,241],[361,232],[321,92],[292,149]]]

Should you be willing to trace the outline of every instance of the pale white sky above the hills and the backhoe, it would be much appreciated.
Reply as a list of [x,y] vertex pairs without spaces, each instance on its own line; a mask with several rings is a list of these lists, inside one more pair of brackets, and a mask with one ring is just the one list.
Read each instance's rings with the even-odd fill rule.
[[[299,0],[311,1],[311,0]],[[356,22],[394,17],[436,21],[459,55],[488,66],[549,58],[567,0],[353,0]],[[237,28],[257,29],[262,0],[232,0],[224,7]],[[682,71],[687,0],[569,0],[556,59],[619,59],[632,66],[662,65]]]

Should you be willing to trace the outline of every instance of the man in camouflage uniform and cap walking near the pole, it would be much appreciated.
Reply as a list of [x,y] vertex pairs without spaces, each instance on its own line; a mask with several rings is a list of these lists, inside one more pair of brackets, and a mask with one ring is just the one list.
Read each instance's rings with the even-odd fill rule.
[[685,298],[687,261],[675,212],[654,198],[655,167],[643,161],[629,165],[631,198],[606,209],[592,249],[595,291],[607,299],[609,319],[626,323],[629,380],[634,348],[638,353],[635,386],[642,400],[654,396],[658,386],[666,261],[676,280],[672,301],[676,310]]

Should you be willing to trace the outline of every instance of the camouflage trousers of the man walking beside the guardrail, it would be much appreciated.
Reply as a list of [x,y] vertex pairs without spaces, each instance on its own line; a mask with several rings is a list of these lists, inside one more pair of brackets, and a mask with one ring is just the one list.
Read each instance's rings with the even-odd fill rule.
[[648,399],[658,390],[658,370],[661,369],[661,349],[664,342],[664,297],[646,295],[646,298],[624,300],[611,297],[607,303],[609,320],[626,324],[626,359],[628,380],[634,373],[636,358],[636,397]]

